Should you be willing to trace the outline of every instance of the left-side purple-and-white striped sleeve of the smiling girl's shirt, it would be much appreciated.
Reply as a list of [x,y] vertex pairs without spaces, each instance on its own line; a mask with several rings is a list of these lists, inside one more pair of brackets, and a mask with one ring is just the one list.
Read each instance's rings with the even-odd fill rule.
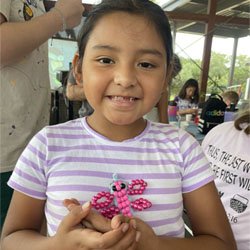
[[46,155],[45,129],[36,134],[27,145],[8,181],[8,185],[36,199],[46,199]]

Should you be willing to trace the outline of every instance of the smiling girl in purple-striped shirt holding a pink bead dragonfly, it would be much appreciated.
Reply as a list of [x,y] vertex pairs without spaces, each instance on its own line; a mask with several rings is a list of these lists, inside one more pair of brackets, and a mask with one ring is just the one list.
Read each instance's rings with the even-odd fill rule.
[[[31,140],[9,180],[2,250],[236,249],[198,142],[143,119],[166,89],[171,44],[166,15],[151,1],[104,0],[89,13],[73,68],[94,113]],[[62,201],[71,198],[84,205],[68,212]],[[106,219],[106,230],[91,220],[96,230],[84,228],[91,199],[98,213],[126,216]],[[39,234],[44,212],[50,237]]]

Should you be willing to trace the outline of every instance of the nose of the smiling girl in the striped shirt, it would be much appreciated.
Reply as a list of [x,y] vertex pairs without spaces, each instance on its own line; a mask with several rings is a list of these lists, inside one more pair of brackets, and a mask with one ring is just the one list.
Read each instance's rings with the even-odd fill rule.
[[130,66],[120,65],[116,68],[114,82],[124,88],[134,87],[137,84],[135,69]]

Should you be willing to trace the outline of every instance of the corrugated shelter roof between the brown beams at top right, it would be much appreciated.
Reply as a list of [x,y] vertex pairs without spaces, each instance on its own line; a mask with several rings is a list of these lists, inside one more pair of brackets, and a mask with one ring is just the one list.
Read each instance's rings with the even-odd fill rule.
[[[169,0],[162,5],[167,12],[194,14],[202,18],[207,14],[208,0]],[[177,32],[205,33],[205,23],[171,18]],[[214,35],[220,37],[245,37],[250,31],[250,0],[217,0]],[[228,18],[225,18],[228,17]],[[232,23],[234,22],[234,23]]]

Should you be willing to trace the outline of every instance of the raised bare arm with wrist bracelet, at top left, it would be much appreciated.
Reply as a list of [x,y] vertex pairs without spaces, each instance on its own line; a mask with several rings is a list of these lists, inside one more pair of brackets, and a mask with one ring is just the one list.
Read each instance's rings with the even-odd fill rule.
[[[55,4],[67,29],[80,24],[84,7],[81,0],[58,0]],[[56,10],[26,22],[7,22],[0,13],[0,64],[9,64],[25,56],[62,30],[62,17]]]

